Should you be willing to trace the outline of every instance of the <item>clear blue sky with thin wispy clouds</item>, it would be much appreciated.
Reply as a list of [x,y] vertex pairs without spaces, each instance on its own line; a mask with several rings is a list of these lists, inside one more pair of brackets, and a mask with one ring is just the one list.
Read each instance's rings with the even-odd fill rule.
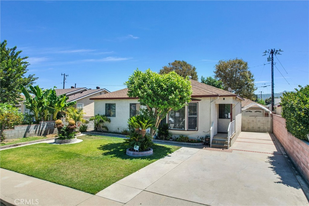
[[[122,86],[133,70],[174,60],[214,75],[219,60],[243,58],[256,93],[270,93],[265,49],[281,48],[275,92],[309,82],[308,1],[1,1],[1,41],[28,56],[38,85]],[[281,76],[286,78],[286,80]],[[288,84],[290,83],[290,84]],[[113,85],[113,86],[112,86]],[[116,85],[116,86],[115,86]],[[237,89],[237,88],[233,88]]]

